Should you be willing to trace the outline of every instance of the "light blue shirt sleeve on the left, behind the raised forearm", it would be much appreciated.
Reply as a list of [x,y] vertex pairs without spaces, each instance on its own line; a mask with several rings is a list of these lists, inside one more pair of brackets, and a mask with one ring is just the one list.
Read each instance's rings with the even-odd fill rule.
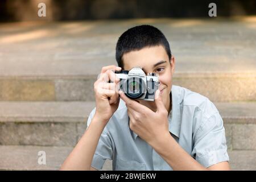
[[[95,113],[95,109],[90,113],[87,121],[87,127],[90,125],[90,122],[92,121],[93,115]],[[96,168],[98,170],[102,169],[102,166],[105,163],[106,159],[112,160],[112,142],[110,138],[110,134],[108,133],[108,130],[103,130],[100,140],[98,141],[98,145],[96,148],[96,151],[93,155],[93,160],[91,166],[93,168]]]

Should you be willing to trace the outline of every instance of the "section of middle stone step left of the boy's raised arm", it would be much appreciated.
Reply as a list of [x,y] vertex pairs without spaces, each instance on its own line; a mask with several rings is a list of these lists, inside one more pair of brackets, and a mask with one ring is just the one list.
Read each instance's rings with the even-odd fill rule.
[[94,102],[0,102],[0,144],[75,146]]

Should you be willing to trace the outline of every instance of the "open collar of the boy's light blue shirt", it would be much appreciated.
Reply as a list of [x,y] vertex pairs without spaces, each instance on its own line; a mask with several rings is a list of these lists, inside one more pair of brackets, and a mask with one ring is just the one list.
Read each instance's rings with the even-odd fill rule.
[[[172,96],[172,110],[168,114],[169,131],[179,138],[181,118],[180,118],[180,89],[178,86],[172,85],[170,96]],[[129,118],[129,122],[130,122],[130,118]],[[134,131],[131,131],[131,134],[133,135],[134,139],[138,137],[138,135]]]

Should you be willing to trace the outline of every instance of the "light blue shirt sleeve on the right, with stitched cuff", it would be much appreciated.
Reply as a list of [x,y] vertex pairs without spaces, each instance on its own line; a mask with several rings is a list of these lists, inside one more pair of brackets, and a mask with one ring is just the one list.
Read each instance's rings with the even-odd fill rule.
[[218,112],[202,123],[195,133],[193,144],[192,156],[206,168],[229,161],[225,129]]

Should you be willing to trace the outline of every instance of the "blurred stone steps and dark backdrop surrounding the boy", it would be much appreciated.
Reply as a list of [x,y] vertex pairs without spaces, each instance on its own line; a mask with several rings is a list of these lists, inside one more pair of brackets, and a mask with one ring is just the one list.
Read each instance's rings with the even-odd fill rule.
[[[211,2],[216,17],[208,15]],[[86,129],[101,67],[116,64],[119,36],[151,24],[176,58],[174,84],[220,111],[232,169],[256,170],[255,7],[253,0],[0,1],[0,169],[59,169]]]

